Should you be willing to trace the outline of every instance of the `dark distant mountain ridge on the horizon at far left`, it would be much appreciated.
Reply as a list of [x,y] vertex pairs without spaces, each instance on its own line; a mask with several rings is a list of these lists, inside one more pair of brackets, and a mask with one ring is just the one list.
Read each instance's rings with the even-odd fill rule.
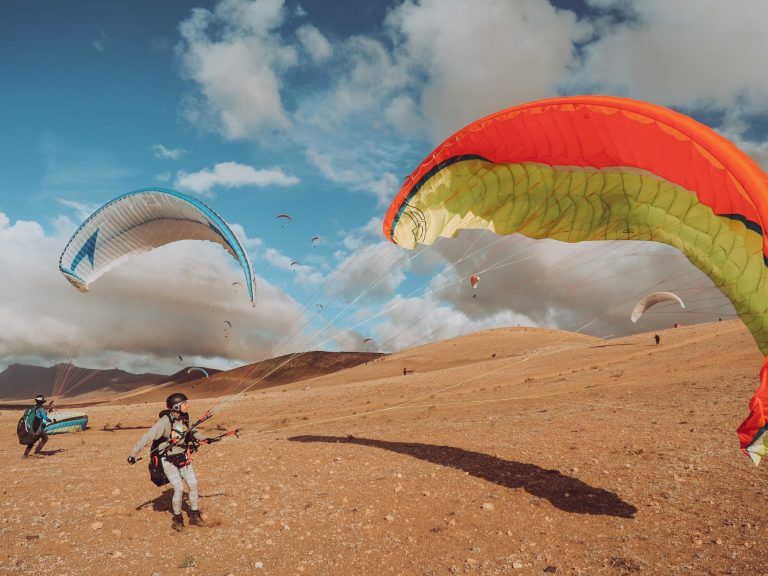
[[11,364],[0,372],[0,399],[29,400],[37,394],[71,398],[98,393],[125,393],[167,381],[161,374],[131,374],[124,370],[96,370],[74,364],[27,366]]

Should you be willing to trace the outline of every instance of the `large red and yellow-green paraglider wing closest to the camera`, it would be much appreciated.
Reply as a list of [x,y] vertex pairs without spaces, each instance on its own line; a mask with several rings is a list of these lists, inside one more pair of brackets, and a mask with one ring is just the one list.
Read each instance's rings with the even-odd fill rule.
[[[564,242],[669,244],[733,303],[768,354],[768,178],[679,112],[612,96],[522,104],[459,130],[406,179],[383,232],[405,248],[486,229]],[[768,453],[768,358],[741,449]]]

